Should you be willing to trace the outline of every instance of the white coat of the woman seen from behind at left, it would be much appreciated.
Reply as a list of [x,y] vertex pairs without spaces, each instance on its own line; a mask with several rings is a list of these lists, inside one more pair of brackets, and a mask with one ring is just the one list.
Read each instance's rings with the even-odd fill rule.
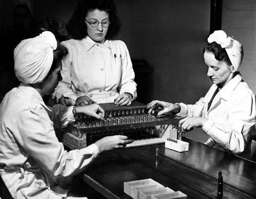
[[0,105],[0,174],[14,198],[62,198],[68,189],[55,177],[74,176],[97,156],[92,144],[67,152],[58,142],[55,128],[74,119],[73,107],[49,108],[27,84],[13,88]]

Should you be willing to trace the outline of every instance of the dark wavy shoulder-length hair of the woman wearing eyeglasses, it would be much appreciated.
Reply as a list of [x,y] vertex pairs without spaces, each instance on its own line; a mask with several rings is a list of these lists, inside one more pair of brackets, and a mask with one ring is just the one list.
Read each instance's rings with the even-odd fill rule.
[[68,33],[73,39],[81,40],[88,36],[85,19],[89,11],[94,11],[96,9],[105,11],[109,14],[110,26],[105,38],[112,39],[119,33],[121,23],[113,0],[79,0],[77,7],[66,26]]

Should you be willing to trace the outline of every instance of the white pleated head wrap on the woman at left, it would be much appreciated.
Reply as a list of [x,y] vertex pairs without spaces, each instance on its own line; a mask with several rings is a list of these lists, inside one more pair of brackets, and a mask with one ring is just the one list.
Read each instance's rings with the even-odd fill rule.
[[14,49],[14,71],[18,80],[25,84],[42,82],[52,66],[56,48],[55,36],[49,31],[20,42]]

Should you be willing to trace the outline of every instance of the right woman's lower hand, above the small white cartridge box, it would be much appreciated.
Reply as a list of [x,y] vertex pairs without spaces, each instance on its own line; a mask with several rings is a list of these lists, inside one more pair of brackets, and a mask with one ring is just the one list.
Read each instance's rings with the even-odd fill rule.
[[191,131],[197,127],[202,127],[208,119],[205,117],[185,117],[179,121],[182,132]]

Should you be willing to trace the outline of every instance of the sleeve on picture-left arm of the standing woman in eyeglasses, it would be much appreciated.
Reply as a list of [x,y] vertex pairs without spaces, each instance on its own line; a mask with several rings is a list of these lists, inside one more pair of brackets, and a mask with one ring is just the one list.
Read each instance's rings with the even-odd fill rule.
[[68,43],[61,43],[68,48],[69,54],[65,59],[62,59],[62,70],[61,76],[62,80],[59,81],[55,91],[53,93],[53,98],[59,102],[61,96],[65,97],[67,105],[75,105],[75,101],[79,95],[72,90],[72,80],[71,80],[71,68],[72,68],[72,49]]

